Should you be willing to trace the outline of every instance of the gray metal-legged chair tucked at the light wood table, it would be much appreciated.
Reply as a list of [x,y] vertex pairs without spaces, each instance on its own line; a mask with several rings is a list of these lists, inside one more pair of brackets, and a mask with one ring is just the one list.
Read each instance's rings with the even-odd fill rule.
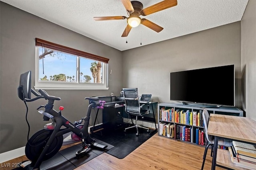
[[[204,131],[205,131],[205,137],[207,139],[207,145],[205,147],[205,150],[204,150],[204,156],[203,156],[203,163],[202,163],[202,167],[201,167],[201,170],[204,169],[204,162],[205,162],[205,159],[206,159],[206,155],[207,155],[207,150],[209,147],[211,147],[211,156],[212,156],[212,153],[213,153],[213,148],[214,148],[214,136],[212,135],[208,135],[208,123],[209,123],[209,113],[206,109],[203,110],[203,121],[204,121]],[[219,139],[218,140],[218,145],[222,145],[222,146],[226,146],[226,147],[230,147],[231,146],[231,141],[224,141],[223,139]]]

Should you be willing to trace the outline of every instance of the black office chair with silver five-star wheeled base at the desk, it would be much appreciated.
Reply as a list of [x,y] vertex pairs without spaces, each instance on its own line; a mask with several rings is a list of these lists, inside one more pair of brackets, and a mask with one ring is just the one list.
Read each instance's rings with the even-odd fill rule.
[[[137,129],[136,136],[139,135],[138,127],[146,129],[147,131],[149,131],[148,128],[138,125],[138,116],[143,116],[143,115],[149,113],[148,110],[142,109],[142,107],[145,104],[142,104],[140,106],[140,101],[139,101],[139,98],[138,98],[138,88],[123,88],[122,91],[124,92],[125,112],[129,116],[130,115],[135,115],[136,116],[135,125],[132,126],[132,127],[125,128],[124,131],[126,132],[127,129],[136,127],[136,129]],[[131,119],[132,119],[132,117],[131,117]]]

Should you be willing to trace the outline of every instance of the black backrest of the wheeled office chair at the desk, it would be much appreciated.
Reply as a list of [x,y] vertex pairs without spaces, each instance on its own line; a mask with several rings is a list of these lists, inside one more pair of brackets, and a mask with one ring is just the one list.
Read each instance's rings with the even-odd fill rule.
[[125,111],[128,114],[140,115],[138,88],[123,88]]

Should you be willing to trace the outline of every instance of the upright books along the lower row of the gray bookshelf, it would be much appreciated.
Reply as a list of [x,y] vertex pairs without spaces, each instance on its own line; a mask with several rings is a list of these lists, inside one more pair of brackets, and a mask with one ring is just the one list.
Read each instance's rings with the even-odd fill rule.
[[180,139],[182,141],[188,141],[196,143],[197,145],[205,145],[204,129],[194,128],[192,126],[172,124],[161,121],[159,123],[159,135],[163,135],[169,138]]

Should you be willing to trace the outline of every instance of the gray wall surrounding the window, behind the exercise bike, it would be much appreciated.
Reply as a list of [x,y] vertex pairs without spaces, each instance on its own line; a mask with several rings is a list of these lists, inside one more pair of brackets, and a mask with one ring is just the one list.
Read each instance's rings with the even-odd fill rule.
[[[90,26],[90,25],[88,25]],[[92,53],[110,59],[109,90],[47,90],[58,96],[55,109],[64,106],[62,114],[70,121],[86,115],[86,96],[119,95],[121,86],[121,52],[107,45],[84,37],[78,33],[38,18],[32,14],[0,2],[1,63],[0,63],[0,152],[6,152],[26,145],[28,126],[25,120],[26,107],[17,96],[20,74],[32,70],[32,85],[35,72],[35,38]],[[46,104],[44,99],[28,103],[30,136],[43,128],[49,121],[42,121],[36,108]],[[92,113],[91,120],[94,120]],[[99,115],[100,117],[100,115]],[[92,121],[91,121],[92,122]],[[92,123],[91,123],[92,124]]]

